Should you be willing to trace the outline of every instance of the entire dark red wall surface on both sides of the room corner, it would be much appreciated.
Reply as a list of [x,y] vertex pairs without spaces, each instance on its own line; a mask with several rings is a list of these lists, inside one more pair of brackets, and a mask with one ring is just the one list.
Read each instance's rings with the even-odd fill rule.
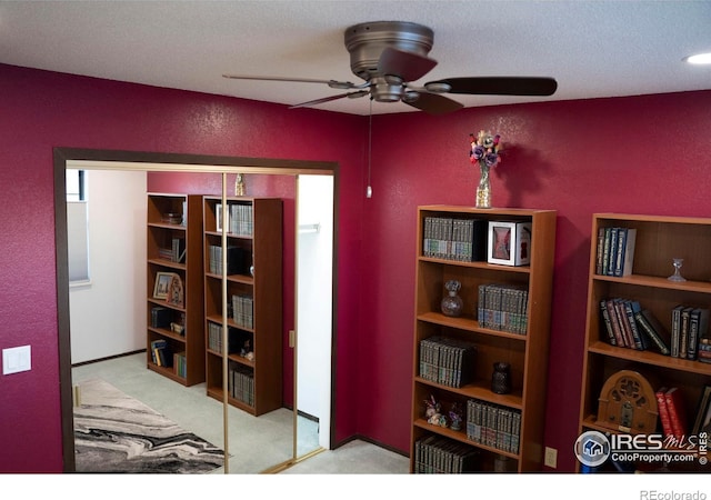
[[[384,106],[384,104],[383,104]],[[337,161],[337,440],[407,452],[415,208],[472,206],[468,134],[508,150],[493,203],[559,211],[545,444],[572,471],[591,214],[709,216],[711,91],[367,119],[0,66],[0,349],[32,346],[32,370],[0,376],[0,471],[62,470],[52,148]]]

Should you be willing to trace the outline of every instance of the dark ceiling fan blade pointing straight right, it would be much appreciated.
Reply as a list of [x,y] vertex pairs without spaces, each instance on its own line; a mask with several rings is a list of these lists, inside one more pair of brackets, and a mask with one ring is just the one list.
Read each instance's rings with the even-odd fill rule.
[[447,84],[449,93],[491,94],[491,96],[552,96],[558,82],[552,78],[539,77],[470,77],[447,78],[424,84]]

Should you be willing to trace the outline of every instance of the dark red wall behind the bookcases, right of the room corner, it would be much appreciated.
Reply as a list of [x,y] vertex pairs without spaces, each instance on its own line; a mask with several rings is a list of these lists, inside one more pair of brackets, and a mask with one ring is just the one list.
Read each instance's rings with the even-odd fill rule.
[[[711,217],[711,92],[475,108],[443,117],[379,117],[373,192],[365,207],[369,336],[361,349],[359,430],[404,446],[414,314],[415,209],[474,204],[469,132],[501,133],[493,204],[558,210],[545,446],[573,471],[592,213]],[[642,249],[638,249],[642,250]],[[647,249],[654,251],[654,249]],[[643,251],[643,250],[642,250]],[[670,270],[671,263],[670,263]],[[711,277],[710,277],[711,278]],[[387,416],[392,416],[388,418]],[[401,416],[395,418],[395,416]]]

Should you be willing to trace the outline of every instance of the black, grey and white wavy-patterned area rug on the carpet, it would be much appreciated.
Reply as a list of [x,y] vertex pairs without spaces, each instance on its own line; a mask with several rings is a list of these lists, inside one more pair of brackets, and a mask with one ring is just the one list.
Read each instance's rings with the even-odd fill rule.
[[110,383],[80,383],[74,407],[77,472],[206,473],[224,453]]

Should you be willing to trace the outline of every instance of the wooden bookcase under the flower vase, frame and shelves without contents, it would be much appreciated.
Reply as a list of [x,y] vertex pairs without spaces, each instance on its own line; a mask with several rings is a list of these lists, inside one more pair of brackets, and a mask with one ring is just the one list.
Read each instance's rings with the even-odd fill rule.
[[[478,219],[484,221],[484,228],[488,228],[489,221],[529,222],[530,263],[493,264],[488,263],[485,254],[479,261],[432,257],[424,248],[428,218],[451,218],[455,221]],[[411,472],[432,471],[429,457],[432,453],[428,451],[431,451],[428,448],[430,443],[435,443],[435,448],[458,449],[460,456],[473,457],[470,467],[478,471],[523,472],[541,469],[555,219],[557,212],[553,210],[419,207]],[[488,229],[484,229],[479,247],[485,246],[487,234]],[[460,317],[441,312],[441,300],[447,293],[444,284],[449,280],[461,283],[459,294],[463,300],[463,313]],[[514,286],[527,293],[527,321],[519,332],[484,328],[483,320],[478,318],[480,287],[491,284]],[[422,362],[429,362],[424,352],[427,340],[438,337],[475,347],[472,377],[461,387],[440,383],[422,372]],[[497,362],[510,366],[509,393],[492,391],[492,372]],[[447,427],[428,422],[424,401],[431,397],[441,404],[445,417],[454,403],[463,410],[463,422],[459,430],[451,428],[451,420],[448,420]],[[488,421],[480,420],[483,413],[488,416]],[[457,472],[437,467],[435,470]]]

